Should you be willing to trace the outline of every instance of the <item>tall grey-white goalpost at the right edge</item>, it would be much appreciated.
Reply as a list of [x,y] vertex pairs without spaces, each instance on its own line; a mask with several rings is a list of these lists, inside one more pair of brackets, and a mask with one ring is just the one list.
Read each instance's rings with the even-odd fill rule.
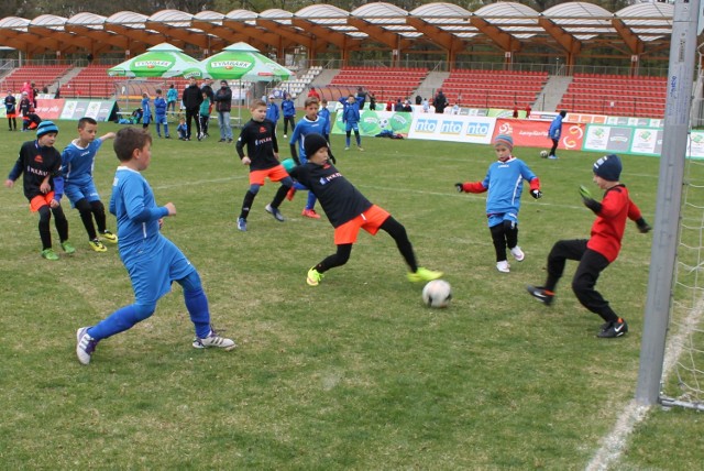
[[672,17],[662,155],[636,390],[636,401],[648,406],[658,402],[662,381],[690,129],[698,9],[700,0],[675,0]]

